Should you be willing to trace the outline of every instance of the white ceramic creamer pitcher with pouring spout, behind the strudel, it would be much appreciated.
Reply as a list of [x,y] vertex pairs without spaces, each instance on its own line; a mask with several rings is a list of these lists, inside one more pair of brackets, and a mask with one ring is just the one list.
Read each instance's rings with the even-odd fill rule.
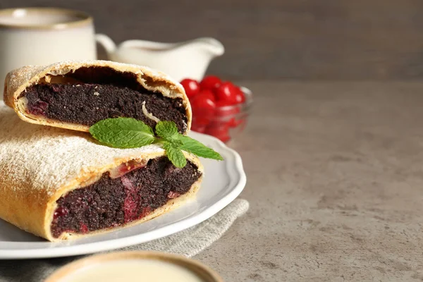
[[128,40],[118,46],[106,35],[96,35],[96,39],[106,49],[109,60],[149,66],[178,81],[201,80],[210,61],[225,51],[221,42],[210,37],[178,43]]

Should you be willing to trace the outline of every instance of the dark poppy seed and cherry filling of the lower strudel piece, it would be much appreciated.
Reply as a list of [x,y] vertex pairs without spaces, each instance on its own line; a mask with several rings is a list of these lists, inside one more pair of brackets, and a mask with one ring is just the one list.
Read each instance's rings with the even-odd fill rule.
[[183,195],[200,178],[190,163],[176,168],[166,157],[150,160],[118,178],[104,173],[96,183],[57,200],[51,233],[87,233],[141,219],[168,200]]

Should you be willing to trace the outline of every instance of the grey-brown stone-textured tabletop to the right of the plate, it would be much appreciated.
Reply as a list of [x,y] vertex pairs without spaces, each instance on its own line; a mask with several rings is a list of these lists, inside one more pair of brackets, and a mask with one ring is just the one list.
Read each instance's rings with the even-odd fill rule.
[[423,83],[255,82],[226,281],[423,280]]

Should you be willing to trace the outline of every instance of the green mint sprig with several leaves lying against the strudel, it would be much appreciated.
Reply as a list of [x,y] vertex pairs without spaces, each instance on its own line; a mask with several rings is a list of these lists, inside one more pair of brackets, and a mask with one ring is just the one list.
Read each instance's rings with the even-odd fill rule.
[[183,168],[187,160],[182,150],[197,157],[223,160],[221,155],[201,142],[178,133],[173,121],[159,121],[156,125],[157,137],[149,125],[135,118],[107,118],[90,127],[90,133],[101,144],[114,148],[136,148],[160,144],[168,159],[178,168]]

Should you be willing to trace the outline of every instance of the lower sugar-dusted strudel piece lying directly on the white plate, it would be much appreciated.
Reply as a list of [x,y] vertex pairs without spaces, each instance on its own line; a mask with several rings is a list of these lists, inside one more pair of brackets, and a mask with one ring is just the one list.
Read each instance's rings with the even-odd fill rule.
[[56,241],[114,231],[195,195],[197,157],[176,168],[164,149],[115,149],[87,133],[21,121],[0,102],[0,218]]

